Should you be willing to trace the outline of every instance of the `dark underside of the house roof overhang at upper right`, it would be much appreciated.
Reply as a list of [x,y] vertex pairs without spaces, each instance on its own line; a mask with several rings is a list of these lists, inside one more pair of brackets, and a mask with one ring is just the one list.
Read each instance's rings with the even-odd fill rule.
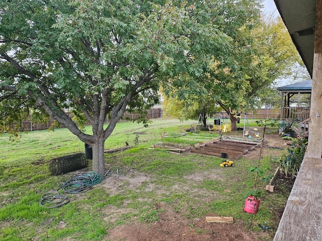
[[313,72],[315,0],[274,0],[310,76]]

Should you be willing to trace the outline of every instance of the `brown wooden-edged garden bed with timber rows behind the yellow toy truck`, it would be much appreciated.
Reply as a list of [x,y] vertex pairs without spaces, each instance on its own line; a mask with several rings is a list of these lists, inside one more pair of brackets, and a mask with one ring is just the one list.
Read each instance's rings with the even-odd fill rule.
[[199,143],[191,148],[191,152],[204,155],[222,157],[222,153],[226,154],[226,158],[239,159],[249,151],[253,151],[258,143],[245,141],[212,140],[205,143]]

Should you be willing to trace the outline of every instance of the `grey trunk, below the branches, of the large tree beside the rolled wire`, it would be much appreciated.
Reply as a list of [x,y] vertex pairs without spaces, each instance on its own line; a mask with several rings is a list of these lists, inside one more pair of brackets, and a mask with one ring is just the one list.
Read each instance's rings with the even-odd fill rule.
[[104,138],[96,138],[92,145],[93,150],[93,171],[105,175]]

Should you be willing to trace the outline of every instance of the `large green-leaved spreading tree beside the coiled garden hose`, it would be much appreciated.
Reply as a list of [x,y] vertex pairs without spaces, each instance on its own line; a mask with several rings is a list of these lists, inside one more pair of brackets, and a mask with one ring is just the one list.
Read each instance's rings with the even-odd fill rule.
[[[31,108],[46,112],[93,147],[93,170],[104,174],[104,142],[125,110],[145,121],[159,83],[182,84],[183,73],[198,79],[210,53],[227,52],[230,38],[209,21],[214,13],[227,21],[214,8],[226,2],[1,1],[0,124]],[[87,119],[93,135],[65,108]]]

